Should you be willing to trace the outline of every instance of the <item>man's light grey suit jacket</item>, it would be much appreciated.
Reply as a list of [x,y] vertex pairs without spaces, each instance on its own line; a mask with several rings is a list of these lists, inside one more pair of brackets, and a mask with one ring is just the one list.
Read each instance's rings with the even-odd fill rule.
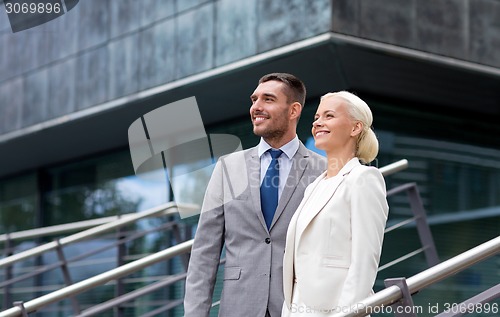
[[324,157],[300,143],[268,230],[260,207],[257,148],[221,158],[203,201],[189,262],[185,317],[209,315],[220,254],[226,247],[222,317],[281,316],[288,224],[304,190],[326,169]]

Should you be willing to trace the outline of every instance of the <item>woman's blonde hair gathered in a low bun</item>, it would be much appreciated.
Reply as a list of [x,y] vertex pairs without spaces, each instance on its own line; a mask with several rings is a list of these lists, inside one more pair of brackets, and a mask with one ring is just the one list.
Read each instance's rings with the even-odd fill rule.
[[348,91],[330,92],[321,97],[340,97],[346,102],[347,111],[353,120],[363,125],[363,130],[356,141],[356,157],[363,163],[370,163],[378,154],[378,139],[373,132],[373,115],[370,107],[358,96]]

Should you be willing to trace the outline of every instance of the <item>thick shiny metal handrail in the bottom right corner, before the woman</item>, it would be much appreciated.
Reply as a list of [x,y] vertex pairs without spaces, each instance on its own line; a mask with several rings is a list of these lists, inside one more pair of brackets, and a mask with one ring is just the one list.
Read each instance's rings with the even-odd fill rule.
[[[408,278],[406,280],[408,290],[410,294],[415,294],[421,289],[465,270],[497,253],[500,253],[500,236]],[[391,305],[402,298],[403,293],[401,289],[393,285],[350,308],[346,308],[347,311],[335,314],[334,317],[365,316],[367,313],[375,311],[377,307]]]

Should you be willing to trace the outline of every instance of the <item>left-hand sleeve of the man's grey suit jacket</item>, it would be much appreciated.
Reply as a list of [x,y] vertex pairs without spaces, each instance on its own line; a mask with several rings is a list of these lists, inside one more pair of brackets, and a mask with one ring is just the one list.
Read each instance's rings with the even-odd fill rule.
[[186,278],[185,317],[208,317],[224,245],[223,172],[218,161],[208,183]]

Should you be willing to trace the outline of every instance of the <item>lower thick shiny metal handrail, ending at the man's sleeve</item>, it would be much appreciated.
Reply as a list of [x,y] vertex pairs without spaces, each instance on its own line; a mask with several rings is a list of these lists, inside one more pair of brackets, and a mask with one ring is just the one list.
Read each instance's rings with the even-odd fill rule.
[[[106,284],[111,280],[118,279],[120,277],[129,275],[147,266],[156,264],[160,261],[168,260],[174,256],[188,252],[193,245],[193,240],[188,240],[158,253],[149,255],[142,259],[136,260],[134,262],[127,263],[108,272],[101,273],[99,275],[93,276],[81,282],[66,286],[57,290],[55,292],[43,295],[41,297],[32,299],[26,303],[23,303],[23,307],[27,313],[38,310],[46,305],[57,302],[59,300],[65,299],[69,296],[77,295],[84,292],[90,288]],[[15,306],[0,312],[0,317],[15,317],[21,316],[22,308]]]

